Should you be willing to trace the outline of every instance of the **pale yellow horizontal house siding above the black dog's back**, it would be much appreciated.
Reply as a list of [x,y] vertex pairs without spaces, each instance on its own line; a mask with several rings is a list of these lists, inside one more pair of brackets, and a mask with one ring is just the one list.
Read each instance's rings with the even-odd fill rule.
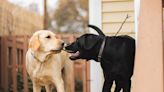
[[107,35],[115,35],[127,14],[130,16],[118,35],[135,37],[134,0],[102,0],[102,29]]

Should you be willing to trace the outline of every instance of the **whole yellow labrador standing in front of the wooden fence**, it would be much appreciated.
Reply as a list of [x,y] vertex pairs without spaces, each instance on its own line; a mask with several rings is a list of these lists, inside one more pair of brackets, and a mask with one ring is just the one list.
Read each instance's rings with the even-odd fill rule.
[[26,53],[26,68],[33,92],[41,92],[41,86],[51,92],[52,84],[57,92],[73,92],[70,84],[73,67],[67,53],[62,51],[63,45],[63,41],[51,31],[41,30],[32,35]]

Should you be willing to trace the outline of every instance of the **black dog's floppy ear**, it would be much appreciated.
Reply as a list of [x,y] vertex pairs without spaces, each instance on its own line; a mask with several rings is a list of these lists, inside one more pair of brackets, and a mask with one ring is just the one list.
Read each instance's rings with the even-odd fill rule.
[[96,46],[96,44],[99,41],[97,35],[88,34],[83,37],[84,38],[82,39],[83,40],[82,46],[85,50],[91,50],[92,48],[94,48]]

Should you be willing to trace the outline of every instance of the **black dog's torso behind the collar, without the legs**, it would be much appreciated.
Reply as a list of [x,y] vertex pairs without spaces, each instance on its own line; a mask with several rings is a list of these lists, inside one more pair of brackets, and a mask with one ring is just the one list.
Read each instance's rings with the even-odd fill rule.
[[130,78],[133,75],[134,56],[135,40],[132,37],[107,37],[101,65],[106,73]]

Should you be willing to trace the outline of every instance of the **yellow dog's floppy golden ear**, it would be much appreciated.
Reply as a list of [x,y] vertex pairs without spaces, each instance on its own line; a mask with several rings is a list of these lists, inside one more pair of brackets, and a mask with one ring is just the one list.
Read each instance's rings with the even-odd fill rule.
[[40,47],[39,37],[35,35],[30,39],[29,48],[31,48],[33,51],[37,51],[39,47]]

